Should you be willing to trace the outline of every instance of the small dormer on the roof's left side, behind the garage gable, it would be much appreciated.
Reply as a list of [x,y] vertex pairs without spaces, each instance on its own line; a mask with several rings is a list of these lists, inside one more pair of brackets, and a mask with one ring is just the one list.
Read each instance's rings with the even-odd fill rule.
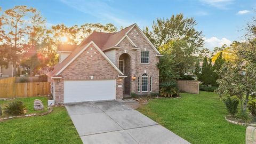
[[60,54],[59,57],[59,62],[62,62],[65,60],[69,54],[71,54],[77,45],[71,45],[71,44],[59,44],[57,49],[58,49],[58,54]]

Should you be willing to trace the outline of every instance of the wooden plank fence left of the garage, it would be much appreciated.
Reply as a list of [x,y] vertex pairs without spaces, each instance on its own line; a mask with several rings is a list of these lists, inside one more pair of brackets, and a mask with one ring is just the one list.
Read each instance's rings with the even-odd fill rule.
[[15,77],[0,80],[0,98],[37,97],[50,94],[50,83],[15,83]]

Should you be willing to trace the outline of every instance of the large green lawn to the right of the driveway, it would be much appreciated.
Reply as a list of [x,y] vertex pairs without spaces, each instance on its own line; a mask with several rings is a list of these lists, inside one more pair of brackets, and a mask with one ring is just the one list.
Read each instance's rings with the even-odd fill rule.
[[138,110],[191,143],[245,143],[246,126],[225,120],[225,105],[213,92],[153,99]]

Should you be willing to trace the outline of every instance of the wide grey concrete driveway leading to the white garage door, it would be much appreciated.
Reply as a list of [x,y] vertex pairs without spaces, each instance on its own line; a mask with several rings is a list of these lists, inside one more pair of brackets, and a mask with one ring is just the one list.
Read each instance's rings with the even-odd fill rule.
[[66,105],[84,143],[189,143],[122,101]]

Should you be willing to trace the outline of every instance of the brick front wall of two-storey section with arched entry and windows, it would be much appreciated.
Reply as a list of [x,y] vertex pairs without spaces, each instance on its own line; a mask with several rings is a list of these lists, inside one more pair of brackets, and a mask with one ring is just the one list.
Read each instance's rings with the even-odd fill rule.
[[[116,50],[116,66],[119,66],[119,57],[127,53],[131,58],[131,76],[135,76],[135,81],[132,81],[131,77],[131,92],[137,94],[148,94],[148,93],[158,93],[159,92],[159,69],[157,68],[157,63],[159,58],[156,57],[156,52],[147,42],[145,37],[140,33],[137,27],[134,27],[129,34],[127,34],[132,42],[139,48],[138,50],[132,50],[132,44],[127,38],[124,38],[118,46],[120,49]],[[140,53],[141,51],[149,51],[149,63],[140,63]],[[148,92],[141,92],[141,76],[146,73],[148,75]],[[138,92],[138,77],[140,77],[140,92]],[[149,78],[152,77],[152,91],[149,91]]]

